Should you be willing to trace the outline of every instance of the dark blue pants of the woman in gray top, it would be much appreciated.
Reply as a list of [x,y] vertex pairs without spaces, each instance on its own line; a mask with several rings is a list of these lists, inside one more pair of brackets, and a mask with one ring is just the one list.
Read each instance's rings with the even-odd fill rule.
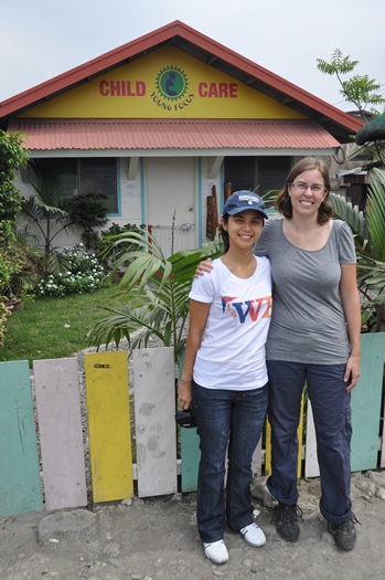
[[270,494],[278,502],[296,505],[297,429],[304,382],[311,401],[317,456],[320,467],[320,510],[332,524],[351,516],[350,444],[352,436],[351,394],[343,380],[345,365],[302,365],[268,360],[271,425]]

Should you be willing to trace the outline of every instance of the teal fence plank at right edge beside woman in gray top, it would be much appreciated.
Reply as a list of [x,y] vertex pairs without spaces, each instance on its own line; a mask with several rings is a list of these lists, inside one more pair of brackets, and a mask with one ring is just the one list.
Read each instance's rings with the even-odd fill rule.
[[361,335],[361,377],[352,392],[352,472],[378,465],[385,333]]

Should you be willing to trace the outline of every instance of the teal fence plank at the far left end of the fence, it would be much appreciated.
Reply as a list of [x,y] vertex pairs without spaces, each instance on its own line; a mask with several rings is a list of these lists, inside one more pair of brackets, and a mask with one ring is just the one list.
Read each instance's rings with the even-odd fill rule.
[[43,509],[30,370],[0,362],[0,516]]

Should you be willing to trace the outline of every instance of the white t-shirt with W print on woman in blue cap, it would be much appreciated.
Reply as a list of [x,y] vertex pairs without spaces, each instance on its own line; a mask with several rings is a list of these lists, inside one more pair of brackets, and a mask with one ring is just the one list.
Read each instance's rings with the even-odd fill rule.
[[214,260],[213,271],[195,278],[190,298],[211,304],[197,350],[194,381],[207,389],[245,391],[268,381],[265,344],[271,317],[271,274],[266,257],[247,280]]

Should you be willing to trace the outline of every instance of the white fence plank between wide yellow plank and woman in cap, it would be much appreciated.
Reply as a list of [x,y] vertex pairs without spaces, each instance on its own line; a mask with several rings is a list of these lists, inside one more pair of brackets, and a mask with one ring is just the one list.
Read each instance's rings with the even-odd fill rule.
[[177,479],[173,349],[133,350],[138,496],[173,494]]

